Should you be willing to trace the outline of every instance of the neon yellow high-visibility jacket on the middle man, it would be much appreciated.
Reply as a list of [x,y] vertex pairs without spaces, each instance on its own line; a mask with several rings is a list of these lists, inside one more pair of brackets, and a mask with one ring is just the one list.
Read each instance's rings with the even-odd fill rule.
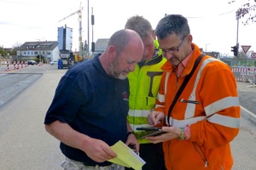
[[[160,79],[163,70],[160,68],[165,64],[166,58],[155,53],[157,57],[147,61],[141,68],[136,65],[135,71],[128,74],[130,83],[128,122],[137,137],[143,135],[138,132],[137,127],[149,127],[147,116],[154,109],[155,98],[160,89]],[[140,144],[149,143],[147,139],[138,139]]]

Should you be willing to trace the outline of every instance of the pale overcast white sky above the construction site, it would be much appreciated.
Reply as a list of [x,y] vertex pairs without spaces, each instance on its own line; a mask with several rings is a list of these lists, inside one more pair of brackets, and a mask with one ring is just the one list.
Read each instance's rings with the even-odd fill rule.
[[[88,7],[89,1],[89,7]],[[109,38],[125,27],[133,15],[142,15],[153,28],[165,14],[182,14],[189,20],[193,42],[204,51],[232,55],[231,46],[251,46],[256,51],[256,23],[244,26],[236,20],[236,10],[248,0],[0,0],[0,46],[12,48],[16,44],[36,41],[57,41],[57,29],[73,28],[73,50],[79,50],[79,14],[82,10],[83,42]],[[88,26],[91,14],[95,25]],[[75,13],[75,14],[73,14]],[[72,16],[67,17],[69,14]],[[67,19],[59,20],[67,17]],[[238,23],[238,24],[237,24]],[[237,31],[238,27],[238,31]],[[238,32],[238,36],[237,36]],[[248,52],[249,53],[249,52]]]

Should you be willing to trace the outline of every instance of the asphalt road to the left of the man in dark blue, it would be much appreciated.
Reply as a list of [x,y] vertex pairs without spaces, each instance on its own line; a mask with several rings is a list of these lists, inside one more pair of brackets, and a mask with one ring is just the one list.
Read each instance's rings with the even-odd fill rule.
[[[30,65],[23,70],[9,72],[10,77],[13,74],[22,77],[21,75],[31,72],[41,76],[34,82],[27,83],[15,98],[0,106],[1,170],[62,169],[58,165],[64,159],[59,141],[44,130],[44,116],[55,93],[56,84],[65,71],[67,70],[57,70],[56,65]],[[29,77],[26,79],[29,80]]]

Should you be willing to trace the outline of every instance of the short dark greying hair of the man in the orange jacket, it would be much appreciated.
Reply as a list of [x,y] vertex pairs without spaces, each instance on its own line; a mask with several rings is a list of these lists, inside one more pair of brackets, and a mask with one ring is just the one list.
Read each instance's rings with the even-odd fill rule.
[[167,14],[156,26],[155,35],[159,39],[166,38],[171,34],[183,39],[190,33],[188,20],[180,14]]

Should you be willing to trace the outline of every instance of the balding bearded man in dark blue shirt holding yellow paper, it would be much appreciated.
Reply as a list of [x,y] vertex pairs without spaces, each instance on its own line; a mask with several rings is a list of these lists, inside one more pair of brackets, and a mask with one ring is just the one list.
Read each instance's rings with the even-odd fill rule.
[[135,31],[116,31],[101,56],[73,66],[61,77],[44,124],[61,141],[67,157],[64,169],[123,169],[108,161],[117,156],[110,146],[119,140],[134,145],[138,152],[139,144],[126,120],[126,77],[142,56],[143,42]]

